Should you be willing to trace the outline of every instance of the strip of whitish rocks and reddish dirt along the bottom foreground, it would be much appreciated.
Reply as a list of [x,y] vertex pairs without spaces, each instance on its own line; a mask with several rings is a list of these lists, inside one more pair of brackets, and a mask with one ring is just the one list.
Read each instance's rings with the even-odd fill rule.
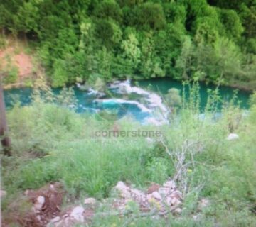
[[[136,219],[143,216],[164,217],[170,213],[178,216],[182,211],[183,195],[172,180],[163,185],[152,183],[145,192],[118,182],[111,194],[101,201],[88,197],[79,205],[68,205],[61,209],[65,192],[60,183],[48,184],[38,190],[26,190],[23,196],[31,205],[30,208],[25,213],[17,210],[16,214],[12,212],[11,216],[4,217],[4,226],[16,222],[27,227],[68,227],[78,223],[90,225],[95,216],[116,215]],[[203,199],[199,205],[207,206],[208,202]],[[107,211],[100,211],[103,206],[107,206]],[[136,214],[132,206],[137,207]]]

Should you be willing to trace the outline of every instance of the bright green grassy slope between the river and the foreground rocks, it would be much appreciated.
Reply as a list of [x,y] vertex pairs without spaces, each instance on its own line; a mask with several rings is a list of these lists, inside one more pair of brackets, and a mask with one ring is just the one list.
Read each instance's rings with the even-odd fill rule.
[[[149,182],[162,183],[176,175],[177,157],[188,148],[183,163],[186,170],[178,182],[185,194],[181,218],[142,218],[134,226],[256,225],[252,213],[256,201],[255,108],[236,126],[239,140],[226,140],[230,124],[236,125],[241,116],[240,109],[230,106],[223,109],[223,117],[215,123],[211,120],[213,114],[202,121],[195,111],[183,109],[169,126],[157,128],[164,138],[163,143],[154,144],[142,137],[95,138],[95,131],[112,130],[112,123],[41,100],[32,106],[16,106],[8,116],[14,157],[2,158],[3,188],[8,192],[3,200],[4,214],[18,194],[46,182],[63,182],[69,195],[78,200],[85,194],[97,199],[109,196],[119,180],[141,188]],[[129,119],[120,121],[119,128],[152,129]],[[188,147],[188,143],[196,145]],[[201,213],[201,221],[193,221],[191,217],[202,197],[210,199],[211,205]],[[121,226],[124,221],[107,216],[95,219],[92,226]]]

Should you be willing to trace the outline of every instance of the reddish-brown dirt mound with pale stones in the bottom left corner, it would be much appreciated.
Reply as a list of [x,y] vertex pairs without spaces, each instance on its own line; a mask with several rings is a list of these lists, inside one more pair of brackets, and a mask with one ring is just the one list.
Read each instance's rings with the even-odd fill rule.
[[[60,183],[48,184],[38,190],[26,190],[3,215],[3,226],[41,227],[60,214],[64,190]],[[7,213],[7,212],[6,212]]]

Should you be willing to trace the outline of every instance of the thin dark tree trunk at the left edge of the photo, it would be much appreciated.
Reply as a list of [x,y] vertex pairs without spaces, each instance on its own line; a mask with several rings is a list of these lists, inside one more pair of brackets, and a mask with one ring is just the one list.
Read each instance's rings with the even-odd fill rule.
[[0,77],[0,140],[4,149],[4,155],[11,156],[11,140],[8,135],[8,127],[6,121],[6,109],[4,104],[4,91]]

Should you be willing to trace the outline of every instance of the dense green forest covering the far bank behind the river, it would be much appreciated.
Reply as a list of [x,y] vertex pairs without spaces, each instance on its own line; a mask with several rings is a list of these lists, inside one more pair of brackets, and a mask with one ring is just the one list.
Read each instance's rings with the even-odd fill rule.
[[53,87],[171,77],[255,89],[255,13],[255,0],[2,0],[0,28],[36,48]]

